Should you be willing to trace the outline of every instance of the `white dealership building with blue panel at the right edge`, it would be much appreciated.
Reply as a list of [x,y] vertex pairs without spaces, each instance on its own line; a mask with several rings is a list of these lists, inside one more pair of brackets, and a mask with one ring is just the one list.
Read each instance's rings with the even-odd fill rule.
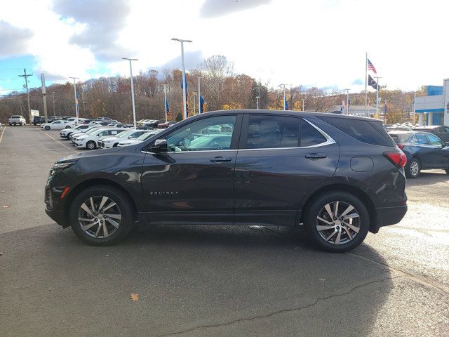
[[[420,126],[449,126],[449,79],[443,81],[443,86],[427,86],[427,96],[415,100],[415,112]],[[424,122],[424,114],[427,115],[427,122]]]

